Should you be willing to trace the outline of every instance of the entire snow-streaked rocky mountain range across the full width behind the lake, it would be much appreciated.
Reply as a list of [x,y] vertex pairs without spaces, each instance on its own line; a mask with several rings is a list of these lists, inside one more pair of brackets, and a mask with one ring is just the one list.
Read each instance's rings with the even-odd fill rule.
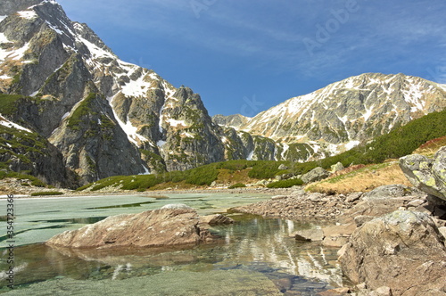
[[[70,21],[55,1],[6,0],[0,4],[0,15],[0,121],[26,128],[52,147],[54,159],[66,168],[59,178],[39,173],[52,184],[62,184],[73,172],[80,185],[114,175],[192,169],[222,160],[311,160],[446,106],[446,87],[411,78],[423,80],[424,92],[432,94],[414,96],[410,102],[404,96],[398,104],[406,112],[394,112],[398,120],[390,116],[384,120],[382,114],[392,114],[396,104],[389,102],[404,95],[401,89],[417,89],[418,84],[409,86],[402,75],[389,77],[378,85],[390,84],[399,90],[396,95],[390,86],[377,95],[376,86],[361,103],[367,94],[359,86],[369,86],[366,80],[373,77],[369,74],[359,77],[362,85],[359,78],[349,78],[252,119],[233,116],[212,121],[200,95],[185,86],[172,86],[153,70],[121,61],[87,24]],[[353,90],[346,91],[348,86]],[[391,99],[385,100],[383,92]],[[311,98],[326,108],[316,108]],[[277,117],[280,113],[282,117]],[[375,128],[379,120],[384,123]],[[4,167],[36,175],[37,156],[25,163],[11,147],[20,135],[3,138]],[[29,143],[29,149],[32,146]]]

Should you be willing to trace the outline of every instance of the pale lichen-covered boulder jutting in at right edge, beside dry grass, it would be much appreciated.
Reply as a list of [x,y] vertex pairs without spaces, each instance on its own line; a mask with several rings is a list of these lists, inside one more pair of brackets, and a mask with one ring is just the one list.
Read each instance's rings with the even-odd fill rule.
[[418,154],[402,157],[400,168],[418,189],[446,201],[446,146],[435,153],[433,160]]

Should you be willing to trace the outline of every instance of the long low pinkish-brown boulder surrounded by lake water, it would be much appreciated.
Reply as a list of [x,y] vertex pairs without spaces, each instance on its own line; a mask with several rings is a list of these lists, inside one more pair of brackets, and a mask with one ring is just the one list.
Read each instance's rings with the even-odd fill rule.
[[197,244],[212,239],[199,226],[197,212],[185,205],[111,216],[77,230],[56,234],[46,244],[70,248],[158,247]]

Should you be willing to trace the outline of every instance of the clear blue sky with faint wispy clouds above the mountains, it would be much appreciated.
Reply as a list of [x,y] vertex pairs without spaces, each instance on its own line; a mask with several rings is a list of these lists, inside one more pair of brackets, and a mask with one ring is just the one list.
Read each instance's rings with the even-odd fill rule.
[[58,0],[120,59],[253,116],[366,72],[446,83],[444,0]]

